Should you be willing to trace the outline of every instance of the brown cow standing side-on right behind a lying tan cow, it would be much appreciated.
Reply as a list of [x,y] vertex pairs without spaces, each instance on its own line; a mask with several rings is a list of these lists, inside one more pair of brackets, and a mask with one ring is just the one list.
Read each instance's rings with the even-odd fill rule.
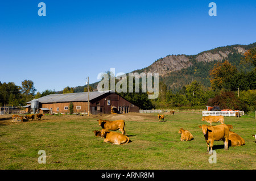
[[117,131],[119,129],[122,134],[125,134],[125,121],[124,120],[116,120],[116,121],[107,121],[107,120],[97,120],[98,125],[101,126],[102,129],[109,129],[112,131]]

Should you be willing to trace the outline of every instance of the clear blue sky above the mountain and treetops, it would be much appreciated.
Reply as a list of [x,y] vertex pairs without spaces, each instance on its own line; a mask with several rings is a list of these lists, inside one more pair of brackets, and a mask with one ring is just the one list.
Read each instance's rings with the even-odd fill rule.
[[0,81],[30,79],[40,92],[83,86],[110,68],[128,73],[168,54],[254,43],[255,22],[254,0],[3,1]]

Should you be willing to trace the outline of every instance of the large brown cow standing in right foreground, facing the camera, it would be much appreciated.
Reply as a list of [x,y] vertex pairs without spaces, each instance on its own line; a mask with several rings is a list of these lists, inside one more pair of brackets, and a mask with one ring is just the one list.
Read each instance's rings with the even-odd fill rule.
[[[229,127],[225,124],[216,125],[216,126],[208,126],[206,124],[199,125],[199,128],[202,129],[205,141],[207,142],[207,151],[209,151],[209,143],[210,143],[210,151],[212,152],[212,146],[214,141],[220,141],[225,138],[224,141],[224,150],[228,150],[228,140],[229,140]],[[210,153],[211,153],[210,152]]]

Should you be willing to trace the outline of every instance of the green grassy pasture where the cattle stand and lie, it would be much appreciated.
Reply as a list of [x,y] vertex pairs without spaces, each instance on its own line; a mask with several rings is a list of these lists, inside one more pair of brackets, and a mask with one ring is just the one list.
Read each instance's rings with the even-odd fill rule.
[[[246,144],[225,151],[223,141],[214,141],[217,163],[212,164],[198,127],[209,125],[201,121],[201,113],[165,115],[161,123],[156,113],[51,115],[23,123],[12,123],[9,117],[0,116],[0,169],[256,169],[256,120],[251,117],[225,117]],[[101,129],[97,119],[125,120],[131,142],[104,143],[92,132]],[[181,142],[180,128],[190,131],[194,140]],[[46,151],[45,164],[38,163],[39,150]]]

